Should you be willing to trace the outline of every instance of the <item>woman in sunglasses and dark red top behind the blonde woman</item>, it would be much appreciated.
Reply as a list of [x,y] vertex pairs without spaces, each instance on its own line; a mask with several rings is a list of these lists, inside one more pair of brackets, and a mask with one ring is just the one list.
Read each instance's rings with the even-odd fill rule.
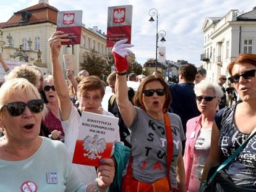
[[48,128],[49,131],[51,131],[50,137],[53,140],[64,141],[64,131],[61,121],[59,120],[59,97],[54,88],[52,75],[48,75],[48,77],[45,78],[43,90],[45,91],[45,96],[48,101],[46,106],[49,110],[42,123],[46,128]]

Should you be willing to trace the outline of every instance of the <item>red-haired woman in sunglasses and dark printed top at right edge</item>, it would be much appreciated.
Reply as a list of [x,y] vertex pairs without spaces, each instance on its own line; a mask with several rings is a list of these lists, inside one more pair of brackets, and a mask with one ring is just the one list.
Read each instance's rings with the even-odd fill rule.
[[[213,123],[210,155],[203,170],[202,180],[213,165],[221,164],[236,151],[256,127],[256,55],[241,54],[228,65],[230,83],[241,102],[218,112]],[[245,148],[233,159],[224,171],[234,186],[256,190],[256,135],[250,138]],[[226,183],[225,183],[226,184]],[[224,187],[223,185],[221,185]],[[229,191],[224,188],[224,191]]]

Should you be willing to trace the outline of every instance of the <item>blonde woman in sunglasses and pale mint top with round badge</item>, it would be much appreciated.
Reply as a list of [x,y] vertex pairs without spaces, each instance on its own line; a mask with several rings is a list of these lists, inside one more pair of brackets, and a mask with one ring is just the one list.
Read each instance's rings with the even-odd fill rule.
[[113,180],[113,162],[103,159],[97,183],[83,185],[66,146],[39,136],[46,112],[38,90],[28,80],[14,78],[0,88],[0,121],[5,131],[0,138],[1,191],[105,190]]

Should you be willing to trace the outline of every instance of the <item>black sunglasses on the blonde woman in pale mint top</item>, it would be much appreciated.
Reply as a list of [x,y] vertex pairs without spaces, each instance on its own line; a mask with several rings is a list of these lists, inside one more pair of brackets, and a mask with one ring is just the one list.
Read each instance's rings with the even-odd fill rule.
[[43,111],[44,102],[43,99],[34,99],[27,103],[22,101],[9,102],[1,107],[1,110],[6,107],[10,116],[17,117],[23,114],[26,106],[33,114],[38,114]]

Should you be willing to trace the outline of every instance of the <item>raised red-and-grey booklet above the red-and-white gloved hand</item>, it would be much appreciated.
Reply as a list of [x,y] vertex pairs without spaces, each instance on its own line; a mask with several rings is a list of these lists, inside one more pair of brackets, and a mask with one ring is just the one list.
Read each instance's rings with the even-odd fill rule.
[[116,41],[128,39],[132,33],[132,6],[108,7],[108,30],[106,46],[111,48]]

